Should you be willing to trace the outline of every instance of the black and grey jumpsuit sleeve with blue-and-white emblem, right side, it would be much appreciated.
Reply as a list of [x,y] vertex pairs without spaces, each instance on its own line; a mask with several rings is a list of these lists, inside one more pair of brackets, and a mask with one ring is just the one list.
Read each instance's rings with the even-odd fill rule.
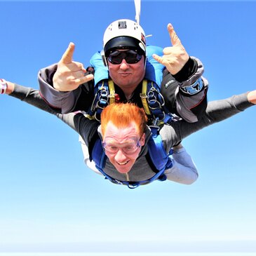
[[198,121],[206,112],[208,81],[203,72],[202,62],[194,57],[174,76],[168,70],[163,72],[161,94],[168,111],[189,123]]

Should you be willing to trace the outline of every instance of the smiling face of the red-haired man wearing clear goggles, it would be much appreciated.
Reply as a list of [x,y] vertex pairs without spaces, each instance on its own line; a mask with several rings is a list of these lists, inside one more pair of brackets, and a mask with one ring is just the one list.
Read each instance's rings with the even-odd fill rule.
[[144,145],[145,134],[140,137],[135,122],[126,128],[118,128],[109,121],[105,130],[103,146],[110,163],[119,173],[128,173]]

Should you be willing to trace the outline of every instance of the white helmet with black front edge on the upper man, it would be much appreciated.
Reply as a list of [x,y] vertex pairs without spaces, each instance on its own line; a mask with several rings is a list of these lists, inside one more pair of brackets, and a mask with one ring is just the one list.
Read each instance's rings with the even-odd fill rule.
[[134,47],[146,55],[146,36],[142,27],[133,20],[116,20],[107,27],[103,36],[103,49],[106,54],[112,48]]

